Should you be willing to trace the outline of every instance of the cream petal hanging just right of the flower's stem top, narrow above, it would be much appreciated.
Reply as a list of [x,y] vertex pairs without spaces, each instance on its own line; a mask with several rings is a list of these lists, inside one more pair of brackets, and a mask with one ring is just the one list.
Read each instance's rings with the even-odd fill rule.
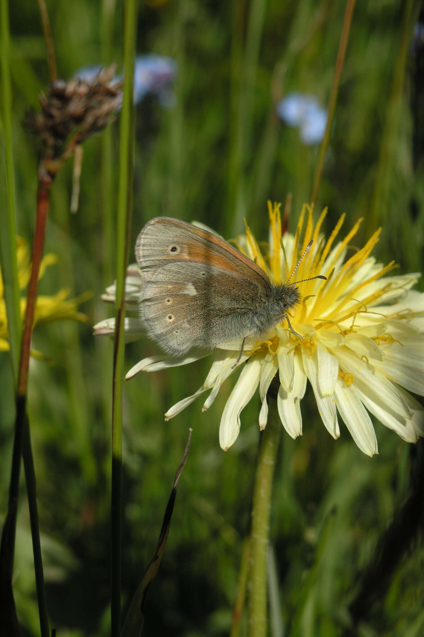
[[292,391],[288,394],[283,387],[278,390],[277,407],[285,431],[292,438],[302,435],[302,414],[300,401],[306,389],[306,374],[304,373],[300,352],[294,354],[294,376]]

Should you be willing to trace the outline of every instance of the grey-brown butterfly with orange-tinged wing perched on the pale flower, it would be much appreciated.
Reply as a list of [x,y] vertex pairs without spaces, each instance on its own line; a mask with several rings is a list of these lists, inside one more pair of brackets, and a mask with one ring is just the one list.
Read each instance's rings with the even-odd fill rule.
[[140,232],[139,313],[147,335],[168,354],[261,336],[299,303],[295,284],[276,285],[256,263],[216,236],[170,217]]

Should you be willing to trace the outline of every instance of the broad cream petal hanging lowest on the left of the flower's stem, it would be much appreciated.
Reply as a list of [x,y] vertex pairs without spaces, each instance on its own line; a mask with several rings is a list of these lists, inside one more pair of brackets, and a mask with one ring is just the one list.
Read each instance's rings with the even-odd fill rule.
[[259,385],[261,366],[261,360],[254,357],[250,358],[229,395],[222,412],[221,424],[219,425],[219,444],[224,451],[231,447],[238,436],[240,431],[240,413],[243,407],[249,403],[257,385]]

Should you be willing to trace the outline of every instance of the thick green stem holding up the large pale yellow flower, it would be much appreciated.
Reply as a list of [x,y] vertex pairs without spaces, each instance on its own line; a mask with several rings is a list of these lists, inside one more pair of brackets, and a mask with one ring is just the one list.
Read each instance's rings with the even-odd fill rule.
[[268,424],[261,434],[252,506],[250,539],[249,637],[266,637],[267,595],[266,558],[270,534],[271,492],[280,440],[281,423],[277,401],[271,401]]

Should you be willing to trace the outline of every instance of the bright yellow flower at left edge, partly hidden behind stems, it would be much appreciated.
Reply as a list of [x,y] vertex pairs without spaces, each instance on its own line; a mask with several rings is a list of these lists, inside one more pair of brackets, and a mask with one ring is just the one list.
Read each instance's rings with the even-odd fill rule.
[[[55,262],[57,262],[57,256],[55,254],[46,254],[41,261],[39,277],[41,278],[46,268]],[[28,243],[22,237],[17,237],[17,265],[19,287],[20,290],[24,290],[28,285],[29,277],[31,275],[31,261]],[[10,349],[10,343],[6,303],[4,301],[3,293],[3,278],[0,270],[0,351],[6,352]],[[89,295],[83,294],[77,299],[68,299],[68,296],[69,290],[65,288],[59,290],[54,296],[39,295],[37,297],[36,308],[34,311],[34,325],[50,322],[52,320],[60,320],[62,318],[72,318],[74,320],[86,322],[88,319],[85,314],[78,311],[78,304],[85,301]],[[20,313],[22,320],[24,320],[26,304],[27,299],[22,297],[20,299]],[[31,351],[31,354],[40,356],[40,354],[38,352],[34,352],[34,350]]]

